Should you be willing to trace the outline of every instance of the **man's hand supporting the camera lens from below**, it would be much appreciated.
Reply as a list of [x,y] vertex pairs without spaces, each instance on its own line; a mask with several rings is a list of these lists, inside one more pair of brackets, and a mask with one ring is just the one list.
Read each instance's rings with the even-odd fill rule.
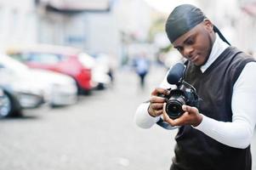
[[173,120],[165,111],[165,105],[166,103],[163,105],[163,120],[172,126],[192,125],[193,127],[197,127],[202,122],[202,115],[200,115],[196,107],[182,105],[182,109],[185,113],[183,113],[179,118]]

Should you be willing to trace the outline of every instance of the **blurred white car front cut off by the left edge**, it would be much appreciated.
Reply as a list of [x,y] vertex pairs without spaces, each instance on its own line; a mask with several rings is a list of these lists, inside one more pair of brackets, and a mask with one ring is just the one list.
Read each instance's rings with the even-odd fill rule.
[[[21,107],[36,108],[43,104],[43,93],[41,88],[27,82],[26,72],[16,62],[10,62],[8,56],[0,56],[0,85],[3,88],[5,104],[11,105],[7,116],[19,115]],[[23,65],[22,65],[23,66]]]

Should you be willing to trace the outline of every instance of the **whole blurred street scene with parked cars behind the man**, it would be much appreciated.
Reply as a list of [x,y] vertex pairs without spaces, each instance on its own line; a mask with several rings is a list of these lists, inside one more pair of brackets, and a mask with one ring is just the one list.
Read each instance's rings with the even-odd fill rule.
[[134,112],[182,61],[164,25],[183,3],[255,56],[256,0],[0,0],[0,169],[168,169],[176,130]]

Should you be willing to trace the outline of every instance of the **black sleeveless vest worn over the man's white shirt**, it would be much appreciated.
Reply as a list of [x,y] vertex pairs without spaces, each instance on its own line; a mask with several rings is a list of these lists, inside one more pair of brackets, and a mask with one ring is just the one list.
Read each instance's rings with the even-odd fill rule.
[[[191,83],[202,99],[199,111],[217,121],[232,122],[233,86],[248,62],[254,61],[229,47],[205,72],[188,63],[185,82]],[[191,126],[179,128],[171,170],[251,170],[250,146],[237,149],[208,137]]]

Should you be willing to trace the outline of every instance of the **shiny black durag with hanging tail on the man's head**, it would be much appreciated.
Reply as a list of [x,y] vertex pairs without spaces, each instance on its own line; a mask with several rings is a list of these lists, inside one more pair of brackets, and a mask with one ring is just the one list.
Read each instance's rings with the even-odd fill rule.
[[[191,4],[183,4],[174,8],[169,14],[166,22],[165,31],[167,32],[170,42],[174,42],[178,37],[190,31],[192,28],[207,19],[200,8],[196,8]],[[230,45],[222,33],[216,26],[213,26],[213,31],[219,34],[219,37]]]

